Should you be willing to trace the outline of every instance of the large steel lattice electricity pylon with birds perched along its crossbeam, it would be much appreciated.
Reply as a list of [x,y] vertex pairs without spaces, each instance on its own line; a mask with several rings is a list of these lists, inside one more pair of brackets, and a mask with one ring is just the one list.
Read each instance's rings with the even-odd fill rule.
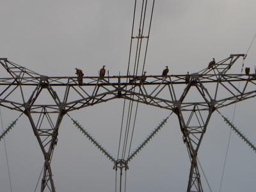
[[113,99],[134,100],[177,115],[191,161],[187,191],[203,191],[197,156],[212,113],[256,96],[255,74],[227,74],[244,57],[231,54],[194,74],[83,77],[83,84],[77,77],[42,76],[0,58],[6,70],[6,77],[0,78],[0,106],[28,116],[45,159],[41,191],[56,191],[51,159],[63,116]]

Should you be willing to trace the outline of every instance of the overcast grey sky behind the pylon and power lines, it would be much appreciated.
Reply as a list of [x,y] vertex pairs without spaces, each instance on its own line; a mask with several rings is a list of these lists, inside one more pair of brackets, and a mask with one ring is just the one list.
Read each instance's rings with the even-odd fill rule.
[[[74,76],[82,68],[95,76],[105,64],[111,75],[125,74],[134,1],[0,0],[0,57],[48,76]],[[160,74],[199,71],[214,57],[244,53],[256,33],[255,0],[156,1],[146,70]],[[256,65],[256,42],[246,67]],[[241,70],[241,62],[235,71]],[[255,99],[237,104],[234,123],[256,143]],[[1,108],[6,127],[19,113]],[[146,112],[147,111],[147,112]],[[222,109],[231,118],[233,106]],[[111,112],[111,113],[109,113]],[[72,113],[116,155],[122,100]],[[140,106],[133,148],[169,111]],[[99,120],[100,119],[100,120]],[[104,127],[104,128],[102,128]],[[230,129],[214,113],[198,154],[213,191],[218,191]],[[6,137],[13,192],[33,191],[43,165],[42,152],[24,116]],[[232,134],[222,191],[255,191],[256,156]],[[186,191],[189,157],[176,116],[129,164],[127,191]],[[114,191],[109,162],[68,118],[63,120],[52,159],[57,191]],[[209,191],[203,179],[205,191]],[[0,142],[0,192],[10,191]]]

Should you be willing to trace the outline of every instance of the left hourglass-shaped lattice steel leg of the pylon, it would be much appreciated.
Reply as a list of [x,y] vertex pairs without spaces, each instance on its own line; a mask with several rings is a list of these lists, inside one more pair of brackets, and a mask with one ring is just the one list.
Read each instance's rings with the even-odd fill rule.
[[[57,104],[58,108],[49,108],[47,105],[40,104],[42,100],[40,100],[38,96],[42,93],[42,90],[45,90],[46,93],[51,95],[53,102]],[[44,97],[41,99],[44,99]],[[44,155],[44,175],[42,176],[41,192],[55,192],[56,189],[52,179],[51,160],[54,147],[58,142],[58,130],[60,128],[61,120],[65,115],[65,107],[63,107],[60,99],[58,99],[56,92],[52,90],[47,81],[47,77],[42,78],[42,81],[38,84],[24,106],[24,113],[28,116],[33,132]],[[35,112],[33,110],[34,108],[41,109],[40,113]]]

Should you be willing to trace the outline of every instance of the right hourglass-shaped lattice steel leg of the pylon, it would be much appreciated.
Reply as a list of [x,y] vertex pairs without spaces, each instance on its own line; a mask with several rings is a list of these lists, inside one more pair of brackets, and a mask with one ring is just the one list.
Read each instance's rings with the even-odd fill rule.
[[[184,100],[191,88],[195,88],[194,90],[197,90],[200,96],[197,98],[198,102],[188,105]],[[202,103],[206,104],[202,105]],[[187,192],[204,191],[198,170],[197,155],[212,112],[214,111],[214,103],[207,89],[196,77],[190,79],[174,110],[179,118],[180,131],[183,134],[183,141],[188,149],[191,162]]]

